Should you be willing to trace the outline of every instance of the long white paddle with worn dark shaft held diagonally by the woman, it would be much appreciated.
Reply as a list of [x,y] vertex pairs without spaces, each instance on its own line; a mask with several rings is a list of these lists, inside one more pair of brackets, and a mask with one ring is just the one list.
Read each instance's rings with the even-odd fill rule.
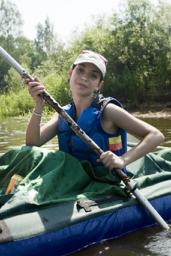
[[[29,73],[25,69],[23,69],[23,67],[21,67],[7,52],[5,52],[5,50],[2,49],[1,46],[0,55],[2,56],[2,58],[5,59],[5,61],[8,62],[8,64],[10,64],[11,67],[13,67],[22,76],[22,78],[29,78],[30,81],[34,81],[34,78],[32,78],[32,76],[29,75]],[[103,153],[103,150],[101,150],[101,148],[98,147],[98,145],[95,144],[95,142],[92,141],[92,139],[89,138],[89,136],[86,135],[85,132],[83,132],[83,130],[74,122],[70,115],[68,115],[67,112],[65,112],[64,109],[62,109],[59,103],[56,102],[56,100],[53,99],[53,97],[50,96],[49,93],[45,91],[42,94],[42,97],[44,100],[46,100],[46,102],[49,103],[50,106],[52,106],[52,108],[56,110],[56,112],[58,112],[61,118],[68,124],[68,126],[71,127],[71,129],[73,129],[76,135],[80,139],[82,139],[92,150],[94,150],[95,153],[98,154],[98,156],[100,156]],[[140,204],[142,204],[142,206],[145,207],[145,209],[151,214],[151,216],[155,219],[158,225],[160,225],[161,228],[169,230],[170,227],[167,225],[164,219],[161,218],[161,216],[157,213],[154,207],[152,207],[148,200],[146,200],[146,198],[143,197],[139,189],[137,189],[137,187],[130,180],[130,177],[124,174],[124,172],[122,172],[121,169],[116,168],[113,171],[116,173],[116,175],[118,175],[119,178],[121,178],[121,180],[125,183],[128,189],[131,190],[131,192],[135,195]]]

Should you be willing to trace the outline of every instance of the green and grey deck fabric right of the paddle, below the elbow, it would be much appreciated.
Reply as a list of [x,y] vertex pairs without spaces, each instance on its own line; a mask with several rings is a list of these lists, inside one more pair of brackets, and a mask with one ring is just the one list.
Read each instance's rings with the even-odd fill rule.
[[127,175],[148,200],[171,194],[171,148],[149,153],[131,163]]

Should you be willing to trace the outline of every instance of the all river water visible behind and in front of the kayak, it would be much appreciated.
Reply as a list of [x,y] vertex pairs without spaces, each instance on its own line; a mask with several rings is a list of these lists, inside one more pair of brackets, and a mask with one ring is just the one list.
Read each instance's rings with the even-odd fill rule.
[[[171,118],[141,118],[157,127],[165,136],[164,147],[171,147]],[[0,118],[0,157],[11,148],[25,145],[28,118]],[[45,122],[42,121],[42,124]],[[58,149],[58,140],[53,138],[43,147]],[[170,202],[171,203],[171,202]],[[163,231],[158,225],[134,231],[115,240],[89,246],[73,256],[169,256],[171,255],[171,231]]]

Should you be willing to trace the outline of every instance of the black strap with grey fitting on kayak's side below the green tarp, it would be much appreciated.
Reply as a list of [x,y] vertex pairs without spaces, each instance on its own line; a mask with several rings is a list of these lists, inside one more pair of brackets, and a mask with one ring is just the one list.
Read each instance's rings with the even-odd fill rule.
[[77,201],[77,205],[85,209],[85,212],[91,212],[92,209],[90,206],[96,206],[97,204],[104,204],[113,202],[116,200],[122,200],[124,202],[128,201],[127,197],[122,197],[121,195],[115,195],[114,197],[105,197],[105,198],[99,198],[96,200],[79,200]]

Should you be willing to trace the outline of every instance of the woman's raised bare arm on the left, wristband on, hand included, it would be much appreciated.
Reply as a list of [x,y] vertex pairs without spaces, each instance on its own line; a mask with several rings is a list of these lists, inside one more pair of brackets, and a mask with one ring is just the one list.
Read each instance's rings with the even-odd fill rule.
[[[45,104],[41,97],[41,93],[44,92],[44,86],[37,77],[35,77],[35,80],[37,82],[29,82],[29,79],[26,79],[24,84],[28,86],[29,94],[31,94],[32,98],[35,100],[35,113],[41,115]],[[58,113],[55,113],[49,122],[40,127],[41,116],[32,114],[26,130],[26,145],[35,145],[40,147],[56,136],[58,133],[58,118]]]

